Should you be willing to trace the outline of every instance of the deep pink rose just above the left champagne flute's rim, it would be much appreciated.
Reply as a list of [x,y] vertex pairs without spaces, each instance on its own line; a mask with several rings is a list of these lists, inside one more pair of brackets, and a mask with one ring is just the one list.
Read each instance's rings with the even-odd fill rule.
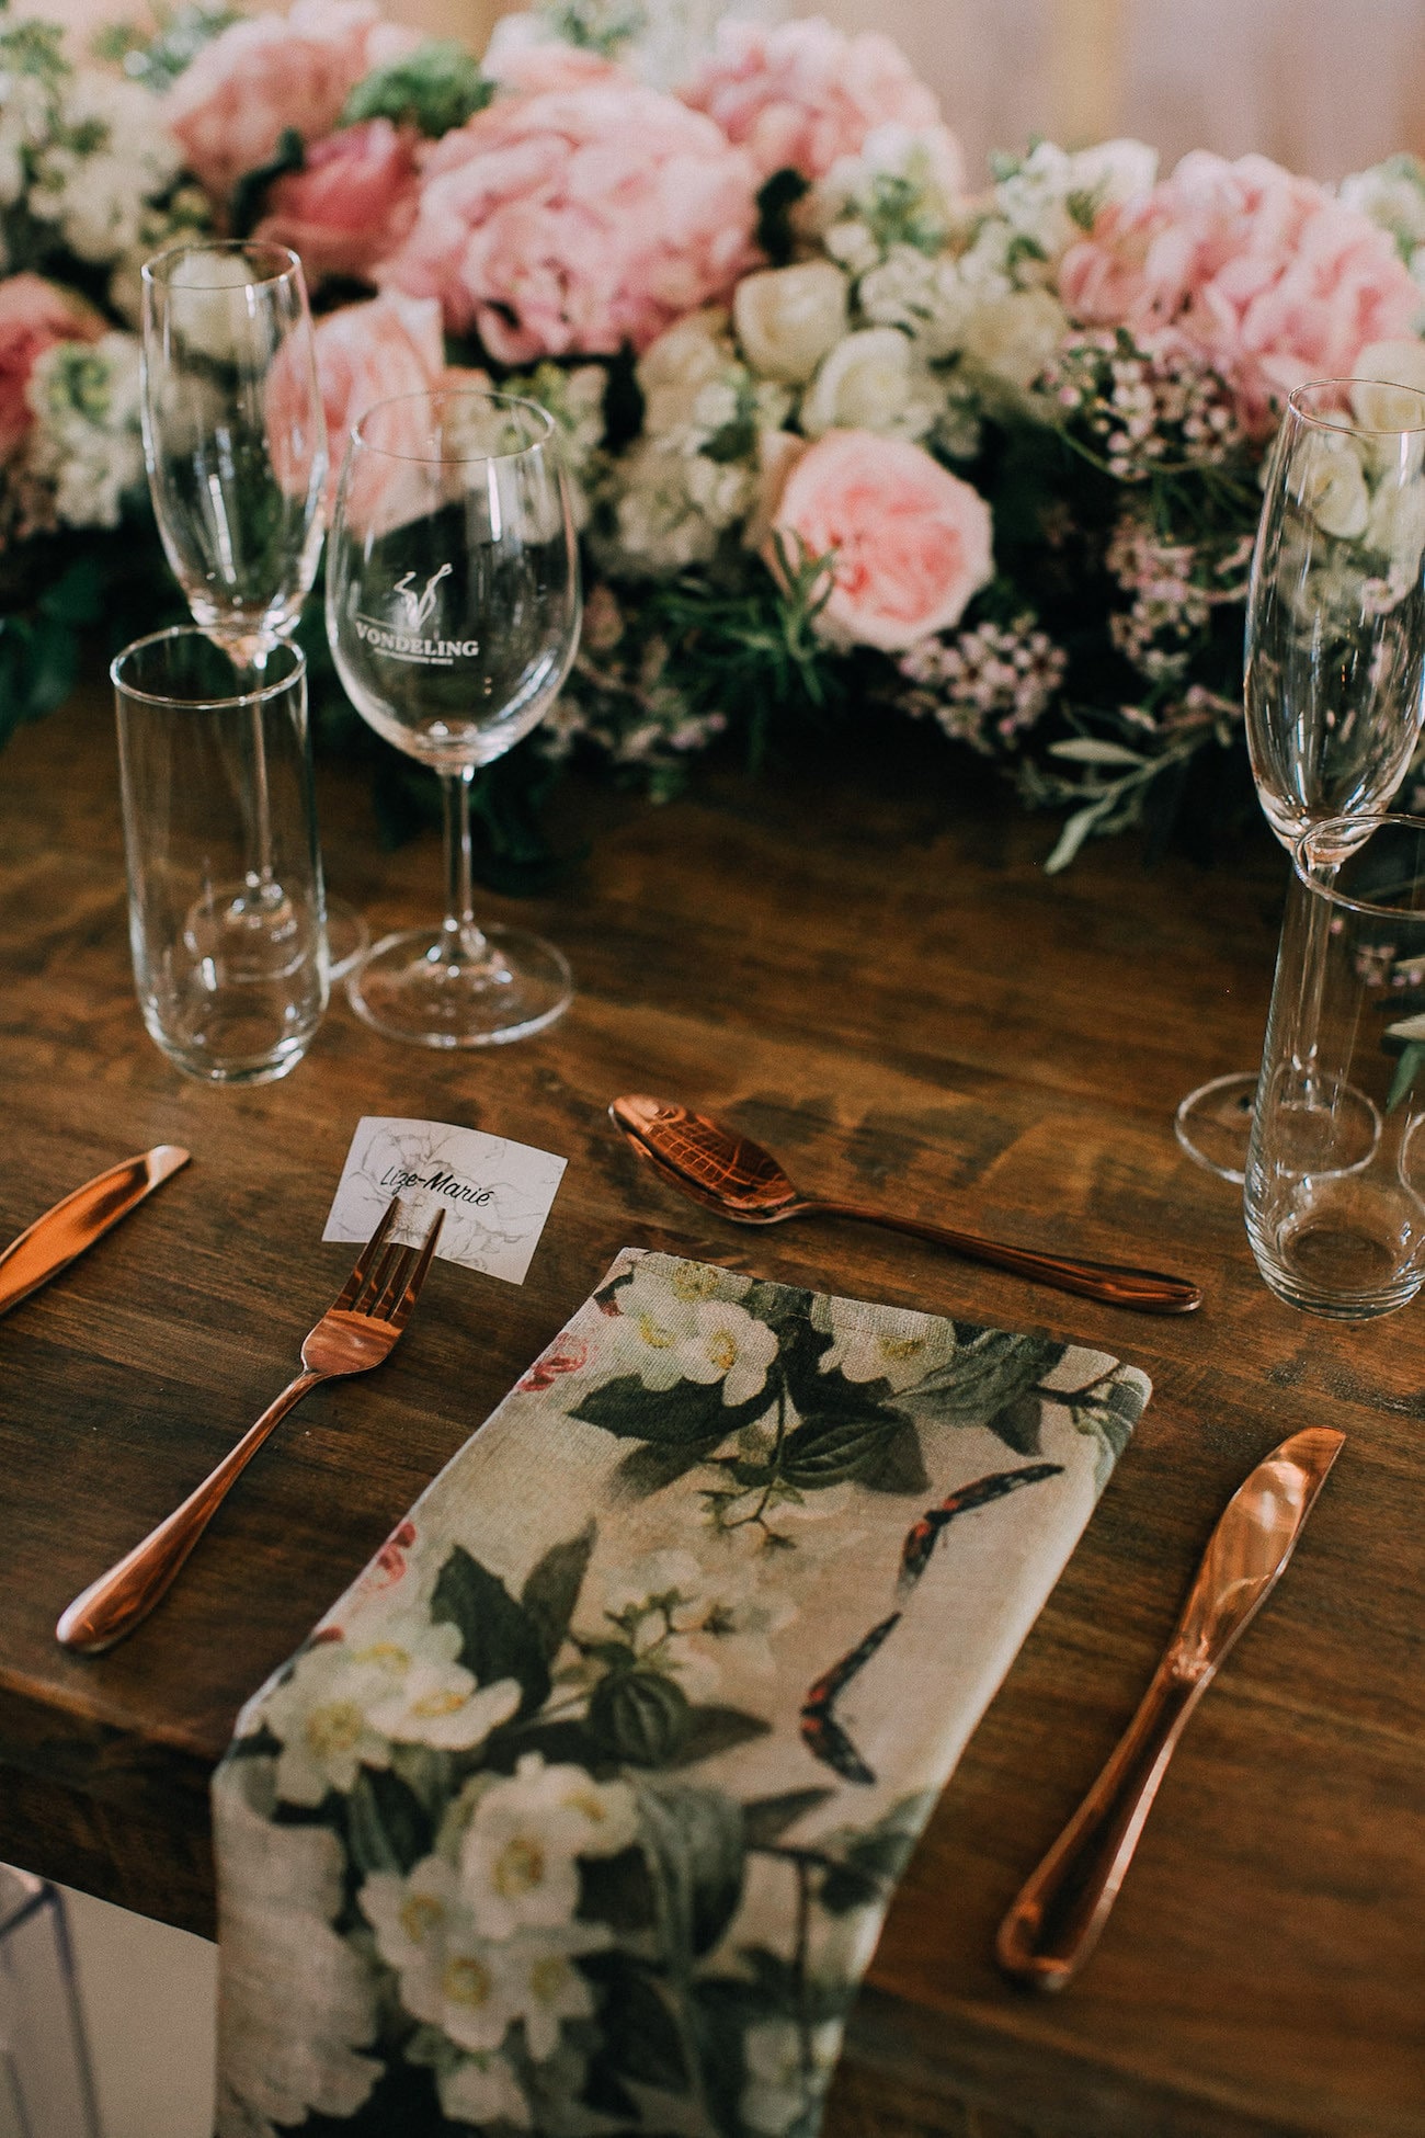
[[327,135],[303,171],[278,180],[254,235],[299,252],[312,282],[365,274],[410,231],[417,195],[412,137],[367,120]]

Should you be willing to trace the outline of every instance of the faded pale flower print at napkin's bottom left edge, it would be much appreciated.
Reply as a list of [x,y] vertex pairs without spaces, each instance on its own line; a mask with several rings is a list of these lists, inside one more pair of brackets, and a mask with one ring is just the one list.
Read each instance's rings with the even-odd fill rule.
[[[214,1792],[222,1862],[218,2138],[278,2138],[308,2110],[350,2117],[380,2063],[361,2055],[376,2033],[376,1986],[361,1954],[331,1928],[342,1907],[342,1845],[327,1826],[273,1826],[248,1800],[256,1762],[224,1770]],[[235,1965],[233,1954],[261,1954]]]

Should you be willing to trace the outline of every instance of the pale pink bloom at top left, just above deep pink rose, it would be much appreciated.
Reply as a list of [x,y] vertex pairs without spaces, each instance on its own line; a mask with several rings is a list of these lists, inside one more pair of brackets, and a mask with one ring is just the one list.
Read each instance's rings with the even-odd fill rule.
[[252,15],[205,45],[169,90],[162,118],[188,169],[218,201],[267,162],[286,128],[320,141],[350,90],[419,43],[385,24],[376,0],[297,0]]

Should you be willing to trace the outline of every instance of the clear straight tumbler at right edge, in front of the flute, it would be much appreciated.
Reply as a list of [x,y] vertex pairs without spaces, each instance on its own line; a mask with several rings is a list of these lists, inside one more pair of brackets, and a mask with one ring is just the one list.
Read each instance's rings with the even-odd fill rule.
[[1290,1306],[1387,1315],[1425,1281],[1425,819],[1299,840],[1252,1110],[1246,1217]]

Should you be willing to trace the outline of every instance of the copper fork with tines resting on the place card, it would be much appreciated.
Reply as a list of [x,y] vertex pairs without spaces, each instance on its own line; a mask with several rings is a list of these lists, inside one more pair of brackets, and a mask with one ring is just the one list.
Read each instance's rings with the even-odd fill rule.
[[436,1253],[444,1210],[432,1219],[421,1246],[387,1246],[387,1234],[395,1223],[400,1197],[393,1197],[387,1212],[357,1255],[355,1268],[342,1285],[338,1298],[310,1330],[301,1347],[301,1373],[288,1381],[276,1403],[267,1405],[254,1426],[244,1432],[237,1447],[222,1458],[218,1469],[190,1492],[182,1507],[175,1507],[167,1522],[152,1529],[143,1544],[100,1574],[96,1582],[77,1595],[60,1623],[56,1638],[66,1648],[81,1655],[98,1655],[115,1640],[147,1618],[154,1604],[165,1595],[177,1569],[188,1559],[214,1514],[222,1505],[229,1486],[246,1471],[267,1435],[293,1409],[295,1403],[316,1388],[318,1381],[335,1381],[348,1373],[370,1373],[389,1355],[395,1338],[410,1319],[425,1272]]

